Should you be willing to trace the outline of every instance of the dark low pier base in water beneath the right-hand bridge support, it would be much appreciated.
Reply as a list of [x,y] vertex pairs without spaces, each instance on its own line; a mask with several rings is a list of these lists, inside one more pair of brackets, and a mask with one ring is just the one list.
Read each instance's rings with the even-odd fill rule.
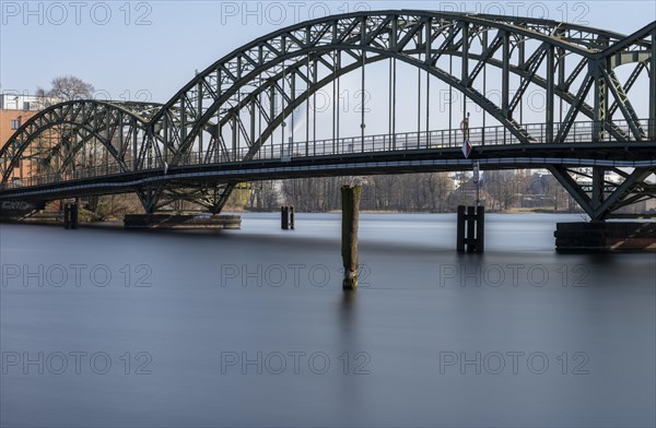
[[553,236],[559,252],[656,252],[656,223],[559,223]]

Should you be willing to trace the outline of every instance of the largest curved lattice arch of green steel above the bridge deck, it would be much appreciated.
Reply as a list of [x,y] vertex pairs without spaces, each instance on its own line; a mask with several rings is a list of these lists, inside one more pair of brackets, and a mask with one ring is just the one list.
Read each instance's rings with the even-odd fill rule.
[[[183,87],[153,121],[162,122],[163,118],[174,117],[177,119],[175,122],[179,123],[178,132],[171,130],[169,135],[173,138],[165,151],[171,152],[171,159],[176,164],[192,147],[203,146],[202,142],[199,144],[198,141],[203,138],[201,130],[208,120],[215,118],[221,128],[229,122],[226,118],[235,117],[236,110],[248,106],[248,102],[241,99],[241,92],[244,88],[257,87],[256,82],[262,80],[284,81],[286,61],[297,58],[296,63],[292,63],[286,69],[298,70],[304,57],[314,56],[312,61],[315,64],[323,63],[329,67],[325,59],[316,58],[319,52],[330,55],[333,51],[348,51],[354,56],[353,52],[358,51],[362,52],[363,63],[368,61],[366,52],[375,52],[431,72],[481,106],[523,142],[529,142],[531,138],[514,118],[513,112],[529,83],[543,87],[549,98],[546,122],[558,127],[554,135],[549,135],[550,140],[554,142],[564,140],[579,112],[599,123],[599,134],[606,130],[620,141],[629,138],[641,140],[645,138],[645,131],[641,126],[632,127],[631,135],[614,126],[607,115],[599,112],[600,108],[605,108],[604,106],[590,106],[586,104],[585,97],[593,86],[595,93],[608,92],[606,82],[599,83],[599,81],[606,79],[612,81],[612,75],[599,76],[599,70],[596,69],[600,62],[607,60],[604,52],[623,43],[626,45],[623,49],[649,54],[653,50],[649,37],[656,27],[655,24],[633,35],[632,41],[626,44],[626,37],[617,33],[548,20],[426,11],[361,12],[330,16],[283,28],[236,49]],[[496,35],[488,37],[490,32],[496,32]],[[470,52],[469,49],[476,37],[487,39],[478,55]],[[429,39],[430,43],[426,43]],[[532,54],[526,52],[529,41],[538,45]],[[530,54],[528,59],[526,54]],[[560,74],[570,71],[564,66],[564,57],[571,55],[578,56],[579,60],[574,66],[570,66],[571,73],[566,80],[563,78],[562,81],[557,82],[555,69],[560,67]],[[617,56],[617,52],[613,55]],[[448,74],[435,67],[442,56],[460,58],[460,76]],[[647,56],[643,55],[637,61],[639,67],[641,63],[644,64],[645,58]],[[515,59],[516,64],[513,63]],[[485,63],[503,69],[503,74],[506,76],[502,105],[496,105],[473,87],[473,82]],[[539,75],[538,70],[541,66],[547,67],[551,72]],[[512,96],[511,84],[505,82],[511,73],[522,78],[522,83],[516,91],[519,95]],[[288,76],[291,74],[288,71]],[[306,72],[305,79],[308,75],[309,73]],[[335,75],[337,79],[339,74],[335,73]],[[569,90],[576,83],[577,78],[582,80],[579,88],[576,93],[572,93]],[[621,112],[624,118],[635,119],[631,103],[623,96],[622,88],[614,87],[614,90],[612,96],[622,98],[621,104],[624,108]],[[280,96],[285,98],[285,94],[281,93]],[[567,115],[560,124],[554,123],[553,115],[557,96],[570,105]],[[177,109],[177,116],[172,111],[173,108]],[[262,106],[258,108],[261,115]],[[239,127],[244,128],[244,124]],[[210,135],[210,139],[212,136],[219,138],[219,132]]]

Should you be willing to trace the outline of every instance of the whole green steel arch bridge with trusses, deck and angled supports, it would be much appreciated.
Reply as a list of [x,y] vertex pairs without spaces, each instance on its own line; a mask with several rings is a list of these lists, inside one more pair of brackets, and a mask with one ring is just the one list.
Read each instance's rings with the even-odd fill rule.
[[[359,74],[364,94],[376,63],[388,63],[389,87],[376,88],[386,95],[387,115],[372,119],[361,108],[360,135],[342,138],[335,103],[340,78]],[[399,66],[419,72],[413,132],[398,129]],[[625,36],[435,11],[329,16],[234,50],[164,105],[77,100],[44,110],[0,150],[0,200],[131,191],[147,212],[189,200],[219,213],[239,182],[470,168],[460,153],[468,139],[481,167],[549,168],[591,219],[606,219],[656,198],[649,178],[656,173],[655,69],[656,22]],[[449,128],[432,129],[435,82],[473,103],[482,126],[454,127],[449,104]],[[321,127],[309,106],[326,87],[333,94],[331,123],[324,127],[330,136],[318,139]],[[530,91],[544,99],[538,123],[524,120]],[[303,106],[305,141],[298,142],[288,122],[293,129]],[[467,117],[467,109],[464,103],[457,115]],[[387,132],[367,133],[367,120],[387,122]],[[574,179],[582,167],[590,168],[591,186]],[[607,170],[623,181],[606,181]]]

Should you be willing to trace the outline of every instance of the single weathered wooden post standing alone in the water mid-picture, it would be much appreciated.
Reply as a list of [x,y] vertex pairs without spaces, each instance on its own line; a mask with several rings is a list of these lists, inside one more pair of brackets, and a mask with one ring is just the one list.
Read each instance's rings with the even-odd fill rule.
[[342,265],[345,290],[358,287],[358,224],[360,222],[361,186],[342,186]]

